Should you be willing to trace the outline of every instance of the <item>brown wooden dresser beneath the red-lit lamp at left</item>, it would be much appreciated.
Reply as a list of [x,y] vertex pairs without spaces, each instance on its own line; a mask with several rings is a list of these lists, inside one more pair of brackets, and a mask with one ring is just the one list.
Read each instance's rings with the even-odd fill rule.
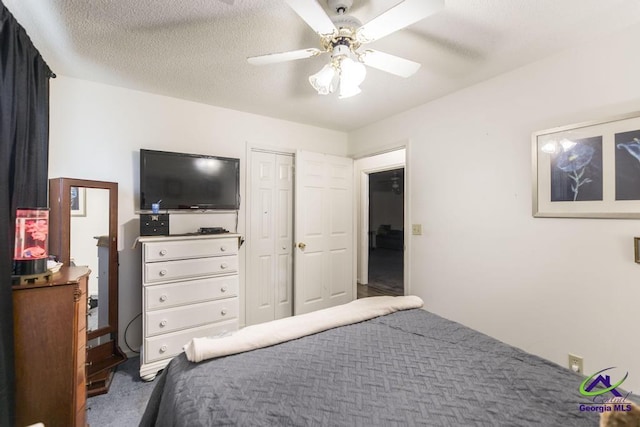
[[13,286],[16,425],[86,425],[86,267]]

